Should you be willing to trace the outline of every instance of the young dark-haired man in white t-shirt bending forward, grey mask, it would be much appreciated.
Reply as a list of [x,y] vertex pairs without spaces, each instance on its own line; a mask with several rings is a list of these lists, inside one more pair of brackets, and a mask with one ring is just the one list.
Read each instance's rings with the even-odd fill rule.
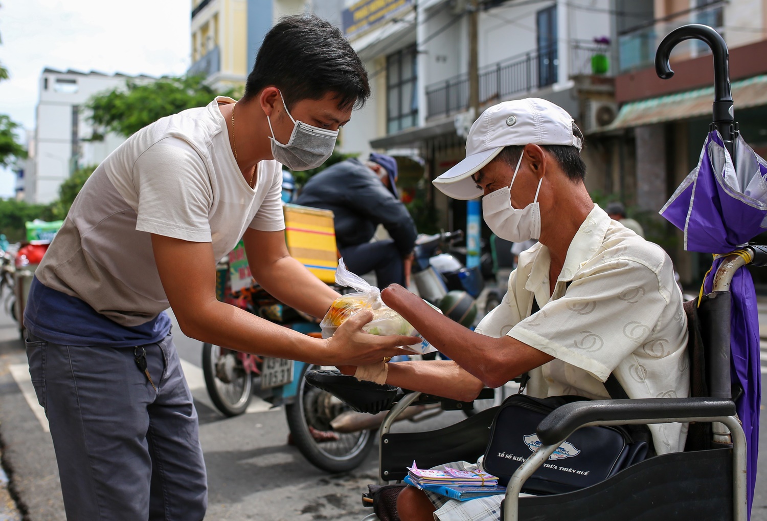
[[314,364],[368,364],[415,341],[361,331],[328,340],[216,300],[216,259],[244,239],[255,279],[322,317],[338,295],[288,255],[282,166],[318,167],[370,95],[341,32],[284,18],[240,101],[164,117],[94,171],[35,274],[25,325],[68,519],[205,516],[197,414],[170,335]]

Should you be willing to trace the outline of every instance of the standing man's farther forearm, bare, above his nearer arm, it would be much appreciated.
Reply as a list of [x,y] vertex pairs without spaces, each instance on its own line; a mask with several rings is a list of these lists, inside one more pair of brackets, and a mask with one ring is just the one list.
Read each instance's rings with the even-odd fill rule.
[[278,301],[317,318],[324,317],[340,296],[291,256],[281,257],[253,276]]

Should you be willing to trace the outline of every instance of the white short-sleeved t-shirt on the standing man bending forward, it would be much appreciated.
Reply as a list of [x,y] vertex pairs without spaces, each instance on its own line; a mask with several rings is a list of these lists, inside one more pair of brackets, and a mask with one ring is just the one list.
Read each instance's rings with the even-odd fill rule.
[[129,137],[94,171],[35,275],[120,325],[168,308],[150,234],[211,242],[215,259],[247,227],[285,229],[282,166],[258,163],[255,188],[242,176],[216,97],[163,117]]

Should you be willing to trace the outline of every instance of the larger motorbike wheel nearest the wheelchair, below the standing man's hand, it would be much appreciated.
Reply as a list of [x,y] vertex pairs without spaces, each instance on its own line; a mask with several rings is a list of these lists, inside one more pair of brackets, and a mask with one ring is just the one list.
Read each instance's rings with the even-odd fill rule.
[[374,432],[335,432],[331,420],[349,407],[328,391],[309,384],[304,373],[311,369],[319,369],[319,366],[307,365],[297,376],[295,402],[285,405],[293,443],[314,467],[330,473],[353,470],[373,448]]

